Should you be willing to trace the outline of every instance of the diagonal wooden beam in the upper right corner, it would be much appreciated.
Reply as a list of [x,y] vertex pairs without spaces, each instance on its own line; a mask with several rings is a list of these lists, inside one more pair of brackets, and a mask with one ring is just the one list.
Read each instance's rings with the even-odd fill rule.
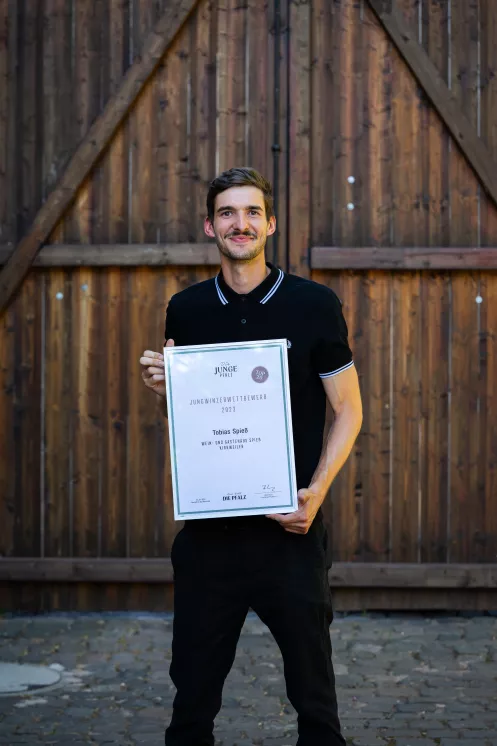
[[412,36],[395,0],[368,0],[401,57],[416,76],[452,137],[497,205],[497,165],[428,54]]

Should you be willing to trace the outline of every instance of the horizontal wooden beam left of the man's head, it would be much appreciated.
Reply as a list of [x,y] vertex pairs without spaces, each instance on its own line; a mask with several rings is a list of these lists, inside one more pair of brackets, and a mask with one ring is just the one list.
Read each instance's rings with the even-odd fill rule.
[[[0,245],[0,266],[12,247]],[[219,265],[214,243],[179,244],[51,244],[44,246],[33,267],[160,267]]]

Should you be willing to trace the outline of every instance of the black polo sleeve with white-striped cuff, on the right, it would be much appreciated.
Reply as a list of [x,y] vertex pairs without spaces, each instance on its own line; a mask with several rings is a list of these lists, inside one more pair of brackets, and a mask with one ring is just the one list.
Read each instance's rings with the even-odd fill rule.
[[326,294],[318,316],[314,366],[320,378],[331,378],[354,365],[342,304],[333,291]]

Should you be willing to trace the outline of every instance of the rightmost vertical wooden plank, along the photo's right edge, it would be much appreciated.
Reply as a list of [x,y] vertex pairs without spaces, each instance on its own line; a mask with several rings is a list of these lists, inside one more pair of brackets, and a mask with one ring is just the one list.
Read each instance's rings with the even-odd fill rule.
[[[497,9],[481,0],[481,137],[497,158]],[[481,192],[481,245],[497,245],[497,208]],[[477,502],[483,509],[481,541],[475,560],[497,556],[497,283],[495,274],[480,274],[480,448]]]

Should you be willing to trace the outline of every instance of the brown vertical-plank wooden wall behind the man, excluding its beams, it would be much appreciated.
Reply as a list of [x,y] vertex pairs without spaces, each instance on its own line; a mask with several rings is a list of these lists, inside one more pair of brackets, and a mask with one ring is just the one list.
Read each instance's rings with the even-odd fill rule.
[[[395,3],[497,161],[497,8]],[[27,232],[166,4],[0,0],[0,244]],[[495,273],[311,261],[312,246],[497,246],[495,205],[367,0],[278,5],[200,0],[50,243],[201,242],[216,173],[277,177],[269,258],[338,292],[364,399],[326,504],[336,561],[496,562]],[[167,432],[138,359],[160,349],[169,297],[216,271],[31,271],[0,317],[4,558],[169,555]],[[10,608],[171,602],[138,584],[3,587]]]

